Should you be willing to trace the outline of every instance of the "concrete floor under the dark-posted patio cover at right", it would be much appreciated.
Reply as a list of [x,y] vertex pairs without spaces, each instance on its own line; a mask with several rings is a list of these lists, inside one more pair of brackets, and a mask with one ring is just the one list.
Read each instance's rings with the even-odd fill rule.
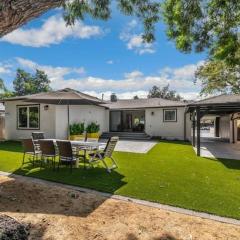
[[[196,152],[196,148],[194,148],[194,150]],[[201,142],[201,156],[240,160],[240,144],[216,141]]]

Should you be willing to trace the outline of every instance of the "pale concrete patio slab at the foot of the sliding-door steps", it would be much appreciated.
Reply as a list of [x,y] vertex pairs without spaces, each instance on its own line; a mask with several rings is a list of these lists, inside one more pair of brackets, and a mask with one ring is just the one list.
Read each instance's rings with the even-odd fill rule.
[[157,142],[154,141],[120,140],[117,143],[115,151],[131,153],[147,153],[156,144]]

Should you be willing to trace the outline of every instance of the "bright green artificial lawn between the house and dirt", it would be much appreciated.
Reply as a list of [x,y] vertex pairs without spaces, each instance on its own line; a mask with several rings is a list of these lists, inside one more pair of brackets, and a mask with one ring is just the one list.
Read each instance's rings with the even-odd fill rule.
[[240,219],[240,161],[197,157],[184,142],[159,142],[148,154],[115,152],[119,168],[21,168],[21,145],[0,143],[0,171],[27,175]]

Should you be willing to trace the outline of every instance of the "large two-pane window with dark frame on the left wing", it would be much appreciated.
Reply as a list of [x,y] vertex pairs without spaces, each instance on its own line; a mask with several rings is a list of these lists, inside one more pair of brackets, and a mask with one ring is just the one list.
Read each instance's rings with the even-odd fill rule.
[[17,107],[19,129],[39,129],[39,105]]

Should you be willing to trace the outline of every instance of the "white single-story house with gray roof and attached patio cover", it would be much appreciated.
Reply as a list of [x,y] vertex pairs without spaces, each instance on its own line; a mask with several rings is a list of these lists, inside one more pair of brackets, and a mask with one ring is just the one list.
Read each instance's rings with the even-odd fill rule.
[[214,121],[214,138],[240,141],[240,95],[225,94],[192,103],[161,98],[114,98],[106,102],[67,88],[2,102],[8,140],[28,138],[33,131],[45,132],[47,138],[66,139],[69,124],[96,122],[103,135],[144,134],[189,140],[200,147],[201,119],[210,118]]

